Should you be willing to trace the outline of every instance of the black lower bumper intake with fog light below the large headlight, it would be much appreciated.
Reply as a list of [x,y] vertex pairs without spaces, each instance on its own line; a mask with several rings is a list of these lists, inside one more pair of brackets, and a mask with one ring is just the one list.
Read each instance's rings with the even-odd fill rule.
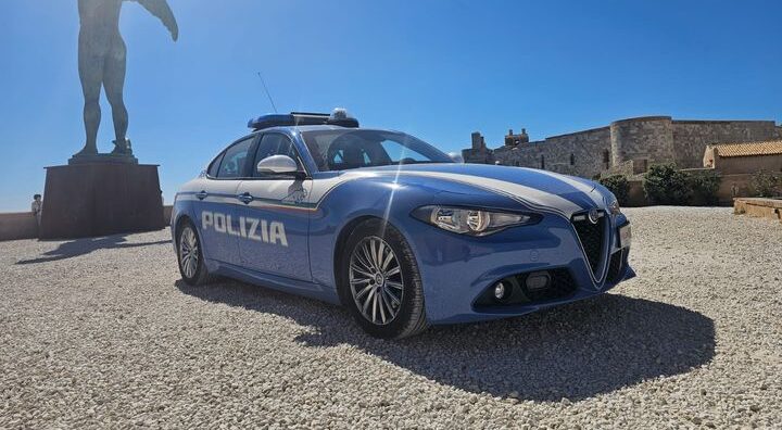
[[489,286],[485,291],[476,301],[476,306],[497,306],[497,305],[526,305],[533,303],[548,302],[557,299],[566,299],[576,292],[578,286],[576,280],[570,276],[570,271],[566,268],[557,268],[545,270],[551,281],[548,286],[539,290],[530,290],[527,288],[527,277],[533,273],[524,273],[503,279],[512,289],[510,295],[497,302],[494,299],[494,283]]

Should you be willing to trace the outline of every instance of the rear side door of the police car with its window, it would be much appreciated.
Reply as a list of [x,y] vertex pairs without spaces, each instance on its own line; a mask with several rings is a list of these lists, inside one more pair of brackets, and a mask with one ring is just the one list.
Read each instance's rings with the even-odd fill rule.
[[241,263],[237,190],[247,176],[254,140],[248,137],[228,147],[212,162],[203,189],[195,192],[193,212],[205,258]]

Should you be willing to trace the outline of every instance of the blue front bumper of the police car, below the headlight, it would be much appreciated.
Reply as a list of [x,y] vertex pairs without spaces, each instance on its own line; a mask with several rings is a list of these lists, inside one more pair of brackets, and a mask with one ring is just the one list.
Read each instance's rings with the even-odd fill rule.
[[[608,262],[596,270],[597,276],[572,224],[558,215],[483,238],[450,233],[424,223],[412,226],[407,239],[417,257],[427,317],[431,324],[454,324],[518,316],[601,294],[634,277],[628,264],[630,249],[620,249],[618,241],[618,227],[626,225],[627,218],[607,216],[607,220],[604,255]],[[521,304],[487,305],[481,301],[502,279],[554,269],[569,275],[572,291]]]

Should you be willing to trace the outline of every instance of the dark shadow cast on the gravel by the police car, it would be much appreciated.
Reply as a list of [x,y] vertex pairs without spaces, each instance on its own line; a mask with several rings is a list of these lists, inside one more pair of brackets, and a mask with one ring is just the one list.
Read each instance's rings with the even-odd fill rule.
[[434,327],[383,341],[365,334],[339,307],[225,280],[177,287],[199,299],[270,313],[310,326],[313,347],[354,345],[396,366],[462,390],[531,401],[588,399],[703,366],[715,354],[715,326],[696,312],[603,294],[517,318]]

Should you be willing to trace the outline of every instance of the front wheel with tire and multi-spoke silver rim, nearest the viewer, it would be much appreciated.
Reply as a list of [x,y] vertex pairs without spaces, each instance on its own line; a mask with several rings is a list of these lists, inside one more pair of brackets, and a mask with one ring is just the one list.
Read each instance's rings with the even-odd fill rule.
[[418,265],[399,230],[380,219],[366,220],[342,251],[340,298],[367,333],[402,339],[429,327]]

